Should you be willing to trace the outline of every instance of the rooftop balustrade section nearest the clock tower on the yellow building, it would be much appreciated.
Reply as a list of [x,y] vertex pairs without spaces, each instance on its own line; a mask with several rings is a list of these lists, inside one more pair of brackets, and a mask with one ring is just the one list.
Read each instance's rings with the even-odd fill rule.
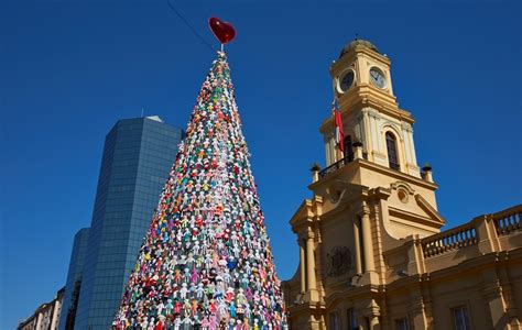
[[432,257],[464,246],[477,244],[477,230],[468,222],[423,239],[422,250],[424,257]]

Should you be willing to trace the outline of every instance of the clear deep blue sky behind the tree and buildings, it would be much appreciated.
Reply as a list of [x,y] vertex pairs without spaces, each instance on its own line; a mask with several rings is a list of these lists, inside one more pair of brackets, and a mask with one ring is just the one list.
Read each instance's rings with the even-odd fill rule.
[[[356,33],[392,61],[448,226],[522,200],[520,1],[175,3],[216,47],[209,16],[237,29],[228,57],[283,279],[297,265],[287,221],[324,164],[328,67]],[[142,108],[185,128],[214,58],[165,1],[0,4],[0,329],[65,284],[105,134]]]

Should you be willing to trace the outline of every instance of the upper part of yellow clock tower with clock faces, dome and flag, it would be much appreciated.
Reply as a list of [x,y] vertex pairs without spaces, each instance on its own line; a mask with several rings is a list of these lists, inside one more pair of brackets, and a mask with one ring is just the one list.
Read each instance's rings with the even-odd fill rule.
[[[420,178],[414,120],[399,108],[393,95],[390,59],[370,42],[356,40],[342,48],[330,74],[349,136],[346,155],[351,156],[351,143],[358,141],[368,161]],[[341,157],[335,146],[331,119],[324,122],[320,131],[326,142],[326,162],[331,165]]]

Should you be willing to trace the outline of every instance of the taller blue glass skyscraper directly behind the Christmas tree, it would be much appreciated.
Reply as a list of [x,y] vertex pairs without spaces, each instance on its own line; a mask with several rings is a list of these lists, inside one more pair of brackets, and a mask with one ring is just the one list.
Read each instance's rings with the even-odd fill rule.
[[182,138],[155,116],[107,134],[75,329],[110,328]]

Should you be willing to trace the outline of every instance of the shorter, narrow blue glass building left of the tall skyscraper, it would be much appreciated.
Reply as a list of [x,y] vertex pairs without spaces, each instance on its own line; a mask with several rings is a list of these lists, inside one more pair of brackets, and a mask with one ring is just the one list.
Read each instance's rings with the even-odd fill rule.
[[78,230],[74,237],[73,252],[70,253],[69,270],[67,272],[67,282],[65,284],[64,302],[59,315],[58,330],[69,330],[74,327],[88,240],[88,228]]

